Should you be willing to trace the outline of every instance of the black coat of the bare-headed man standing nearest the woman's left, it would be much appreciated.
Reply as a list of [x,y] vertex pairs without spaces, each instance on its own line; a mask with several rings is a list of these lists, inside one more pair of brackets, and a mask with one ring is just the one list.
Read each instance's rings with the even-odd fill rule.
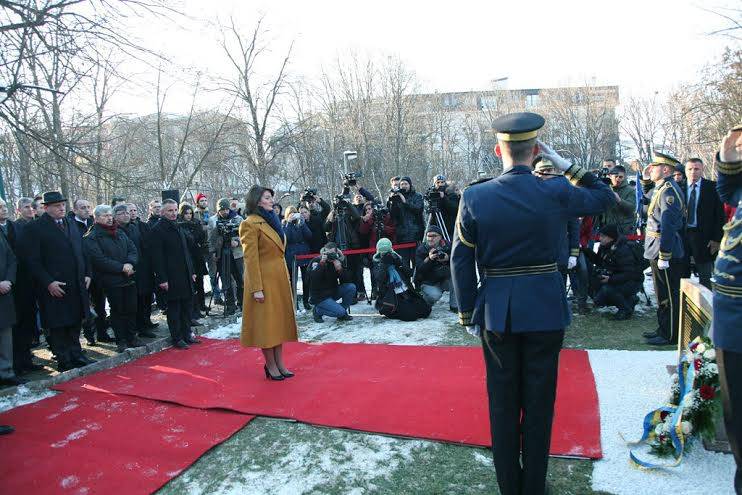
[[161,218],[149,236],[155,284],[168,283],[168,300],[193,296],[193,263],[183,232],[173,221]]

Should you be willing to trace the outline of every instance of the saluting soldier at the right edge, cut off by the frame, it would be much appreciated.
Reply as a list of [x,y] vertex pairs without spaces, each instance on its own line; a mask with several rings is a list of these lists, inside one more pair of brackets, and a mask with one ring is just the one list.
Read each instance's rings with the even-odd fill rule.
[[713,339],[719,365],[724,423],[737,463],[734,489],[742,494],[742,125],[722,139],[716,191],[737,207],[724,226],[714,267]]

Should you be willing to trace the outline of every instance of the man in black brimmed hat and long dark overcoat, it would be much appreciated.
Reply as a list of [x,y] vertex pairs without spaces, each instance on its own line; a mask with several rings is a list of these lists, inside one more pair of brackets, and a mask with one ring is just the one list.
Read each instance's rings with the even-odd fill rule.
[[23,234],[23,248],[36,282],[41,325],[60,371],[94,362],[82,353],[80,327],[90,311],[90,266],[83,256],[82,237],[65,218],[67,199],[45,192],[44,214]]

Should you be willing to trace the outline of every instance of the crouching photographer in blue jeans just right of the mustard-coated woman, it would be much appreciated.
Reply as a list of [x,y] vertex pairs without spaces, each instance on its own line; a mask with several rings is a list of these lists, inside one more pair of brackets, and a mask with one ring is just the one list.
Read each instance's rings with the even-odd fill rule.
[[[352,320],[348,308],[356,294],[351,274],[343,268],[343,253],[328,242],[321,255],[309,263],[311,302],[314,304],[314,321],[321,323],[323,316],[332,316],[341,321]],[[340,299],[342,302],[337,303]]]

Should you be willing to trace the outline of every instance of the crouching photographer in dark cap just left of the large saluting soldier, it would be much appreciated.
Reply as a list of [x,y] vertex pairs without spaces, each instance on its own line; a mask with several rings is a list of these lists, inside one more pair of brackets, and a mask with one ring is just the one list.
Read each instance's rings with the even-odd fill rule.
[[451,284],[451,245],[443,239],[437,225],[430,225],[425,241],[415,252],[415,286],[423,299],[433,306],[448,291],[448,307],[457,313],[456,296]]

